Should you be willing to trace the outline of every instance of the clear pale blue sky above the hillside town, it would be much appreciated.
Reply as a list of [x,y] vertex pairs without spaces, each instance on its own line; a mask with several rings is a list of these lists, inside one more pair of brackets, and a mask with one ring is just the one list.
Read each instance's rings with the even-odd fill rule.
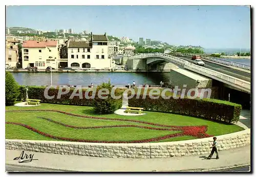
[[7,27],[74,29],[172,45],[250,48],[248,6],[7,6]]

